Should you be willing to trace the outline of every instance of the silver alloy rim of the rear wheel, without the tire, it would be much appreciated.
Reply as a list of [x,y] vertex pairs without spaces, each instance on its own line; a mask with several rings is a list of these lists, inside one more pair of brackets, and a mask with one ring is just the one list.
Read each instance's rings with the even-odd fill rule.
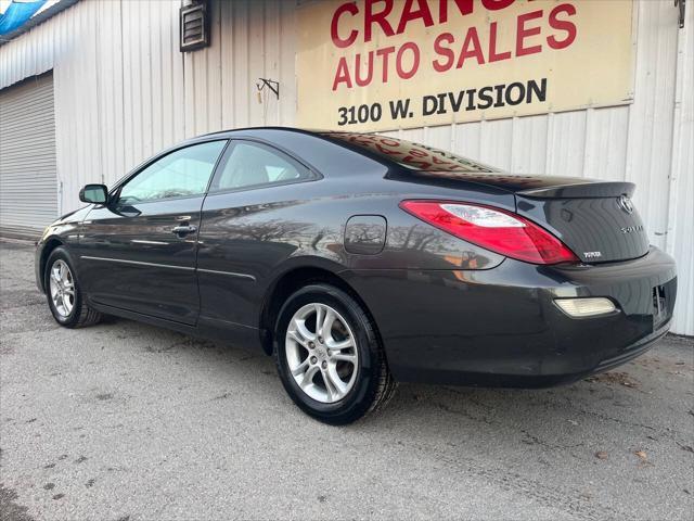
[[290,320],[284,348],[295,382],[317,402],[338,402],[354,387],[357,343],[347,321],[332,307],[311,303],[299,308]]

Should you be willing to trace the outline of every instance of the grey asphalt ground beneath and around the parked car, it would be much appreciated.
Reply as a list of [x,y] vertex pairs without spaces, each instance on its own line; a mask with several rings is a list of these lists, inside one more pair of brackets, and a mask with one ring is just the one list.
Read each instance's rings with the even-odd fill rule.
[[53,321],[0,243],[0,520],[692,519],[694,346],[547,391],[400,385],[346,428],[270,358]]

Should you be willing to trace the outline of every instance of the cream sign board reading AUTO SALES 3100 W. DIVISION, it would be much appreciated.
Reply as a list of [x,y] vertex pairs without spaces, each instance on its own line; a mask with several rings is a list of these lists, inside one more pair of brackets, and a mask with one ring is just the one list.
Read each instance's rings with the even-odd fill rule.
[[317,0],[297,122],[387,130],[632,101],[631,0]]

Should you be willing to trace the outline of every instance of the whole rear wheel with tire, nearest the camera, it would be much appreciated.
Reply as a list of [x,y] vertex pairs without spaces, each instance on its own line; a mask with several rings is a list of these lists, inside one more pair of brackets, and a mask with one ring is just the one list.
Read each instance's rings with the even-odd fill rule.
[[356,421],[385,405],[395,391],[375,325],[335,287],[311,284],[290,296],[275,339],[284,389],[320,421]]

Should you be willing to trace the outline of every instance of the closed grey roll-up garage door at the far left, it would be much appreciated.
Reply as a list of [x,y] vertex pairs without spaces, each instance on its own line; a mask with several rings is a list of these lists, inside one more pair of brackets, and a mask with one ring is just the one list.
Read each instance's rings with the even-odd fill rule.
[[0,228],[35,233],[57,216],[53,75],[0,90]]

